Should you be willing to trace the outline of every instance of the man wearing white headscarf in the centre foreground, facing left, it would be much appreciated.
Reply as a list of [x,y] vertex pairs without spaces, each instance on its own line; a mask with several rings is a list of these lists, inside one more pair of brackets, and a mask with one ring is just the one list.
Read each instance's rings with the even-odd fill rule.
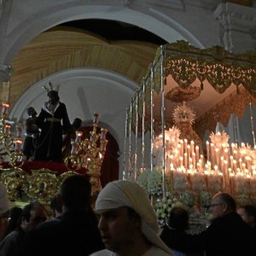
[[161,241],[154,209],[137,183],[108,183],[97,197],[96,213],[100,216],[98,228],[106,249],[91,256],[173,255]]

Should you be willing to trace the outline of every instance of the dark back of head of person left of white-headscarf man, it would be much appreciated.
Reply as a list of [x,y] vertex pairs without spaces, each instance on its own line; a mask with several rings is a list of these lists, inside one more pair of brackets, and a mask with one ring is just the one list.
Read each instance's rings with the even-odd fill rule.
[[61,201],[67,209],[87,209],[90,205],[91,185],[88,177],[77,174],[61,184]]

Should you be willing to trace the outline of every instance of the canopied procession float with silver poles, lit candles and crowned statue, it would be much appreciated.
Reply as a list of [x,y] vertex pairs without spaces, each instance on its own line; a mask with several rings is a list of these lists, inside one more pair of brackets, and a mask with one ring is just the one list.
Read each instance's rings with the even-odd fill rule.
[[184,41],[158,49],[127,108],[123,177],[143,186],[159,219],[177,205],[206,218],[218,191],[256,204],[255,82],[253,52]]

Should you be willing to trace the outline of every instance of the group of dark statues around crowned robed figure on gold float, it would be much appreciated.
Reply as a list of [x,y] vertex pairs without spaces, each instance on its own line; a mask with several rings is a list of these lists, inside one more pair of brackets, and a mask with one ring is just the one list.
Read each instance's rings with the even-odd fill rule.
[[53,88],[49,82],[44,86],[49,97],[44,102],[38,115],[33,107],[27,108],[29,118],[26,119],[23,154],[26,160],[61,162],[71,152],[71,142],[75,139],[75,131],[82,120],[76,118],[70,123],[66,105],[60,101],[59,87]]

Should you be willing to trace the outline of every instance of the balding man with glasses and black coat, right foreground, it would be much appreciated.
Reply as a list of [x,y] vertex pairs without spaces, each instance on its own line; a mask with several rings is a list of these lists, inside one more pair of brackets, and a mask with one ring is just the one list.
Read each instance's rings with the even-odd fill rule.
[[[212,224],[198,235],[183,234],[165,227],[160,237],[168,247],[184,253],[207,256],[254,255],[253,230],[236,213],[236,201],[227,193],[214,195],[210,205]],[[252,253],[254,251],[254,253]]]

